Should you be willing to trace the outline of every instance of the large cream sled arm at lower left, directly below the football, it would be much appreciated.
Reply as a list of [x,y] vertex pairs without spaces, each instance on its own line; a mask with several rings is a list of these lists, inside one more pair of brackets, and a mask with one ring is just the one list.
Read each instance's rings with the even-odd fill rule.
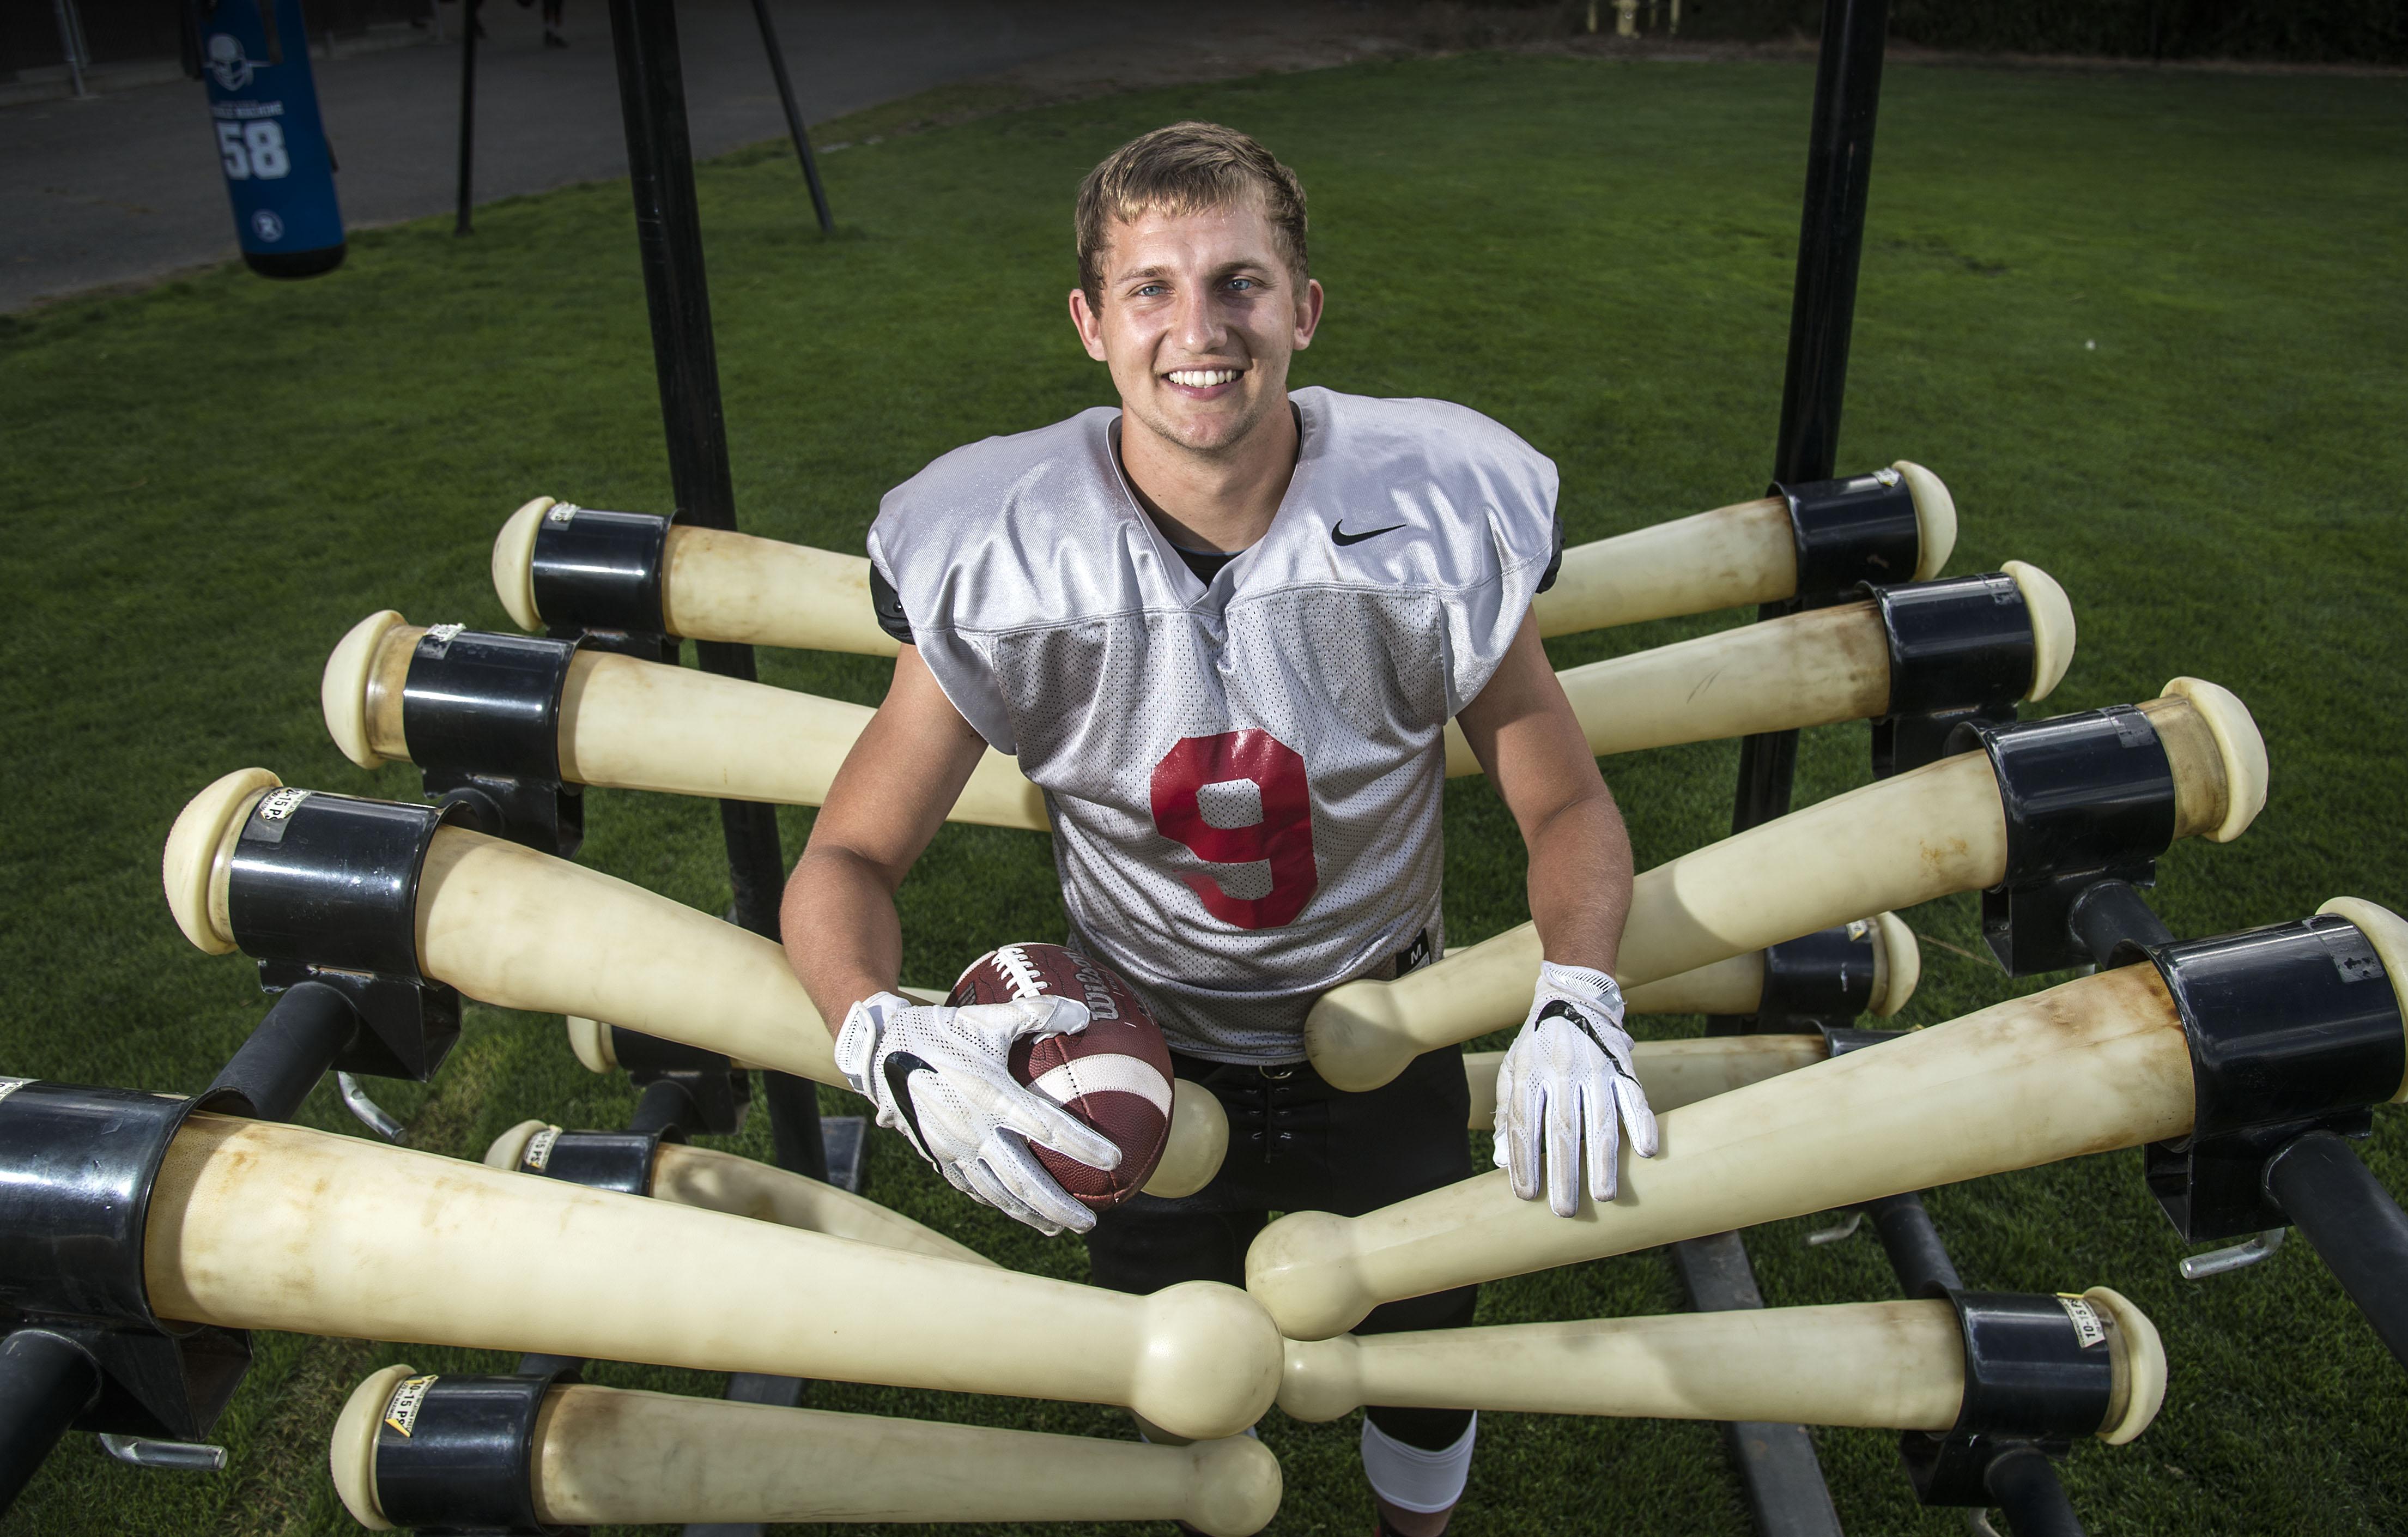
[[231,1115],[169,1147],[142,1267],[181,1323],[1122,1404],[1199,1441],[1279,1390],[1235,1286],[1122,1296]]

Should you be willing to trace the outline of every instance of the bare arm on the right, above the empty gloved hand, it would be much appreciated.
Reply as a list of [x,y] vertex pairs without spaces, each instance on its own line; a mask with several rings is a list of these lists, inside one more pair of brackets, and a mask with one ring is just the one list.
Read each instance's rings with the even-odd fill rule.
[[1534,619],[1454,720],[1522,829],[1546,959],[1611,973],[1630,915],[1630,834]]

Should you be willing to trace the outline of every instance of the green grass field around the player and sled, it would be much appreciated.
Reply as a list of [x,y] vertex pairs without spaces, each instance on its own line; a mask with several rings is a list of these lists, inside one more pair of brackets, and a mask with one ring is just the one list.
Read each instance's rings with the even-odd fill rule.
[[[1069,198],[1112,145],[1204,116],[1262,135],[1312,190],[1329,287],[1298,383],[1442,395],[1563,467],[1570,537],[1753,496],[1770,465],[1811,70],[1466,55],[995,116],[828,157],[843,231],[811,234],[790,157],[701,173],[744,528],[857,549],[879,494],[956,443],[1108,402],[1062,318]],[[2049,708],[2146,699],[2174,675],[2256,711],[2273,800],[2235,846],[2184,846],[2158,906],[2184,935],[2326,896],[2408,903],[2401,877],[2408,484],[2408,94],[2398,80],[1900,67],[1885,82],[1842,467],[1914,458],[1955,489],[1950,571],[2028,559],[2081,614]],[[852,130],[860,132],[857,128]],[[848,137],[838,128],[828,137]],[[195,1091],[262,1012],[238,956],[193,952],[159,894],[176,809],[265,764],[409,800],[352,768],[318,670],[361,614],[506,629],[486,547],[523,499],[667,506],[621,183],[361,234],[308,284],[236,270],[0,320],[0,1072]],[[1558,665],[1736,622],[1558,641]],[[884,665],[763,653],[766,679],[869,701]],[[1724,834],[1731,744],[1606,764],[1654,865]],[[1801,800],[1866,778],[1866,730],[1806,740]],[[809,814],[785,817],[787,858]],[[727,901],[706,802],[595,793],[585,860]],[[1447,795],[1457,942],[1524,915],[1522,855],[1481,781]],[[1060,925],[1043,838],[949,829],[903,891],[910,978]],[[1934,1024],[2037,983],[1979,952],[1975,899],[1931,940],[1905,1014]],[[1657,1021],[1695,1029],[1695,1021]],[[472,1009],[429,1086],[378,1089],[412,1142],[474,1156],[510,1123],[619,1125],[556,1019]],[[831,1106],[843,1099],[831,1094]],[[306,1120],[356,1130],[332,1089]],[[1474,1140],[1486,1152],[1486,1137]],[[756,1115],[742,1152],[766,1156]],[[2367,1159],[2408,1190],[2408,1120]],[[1086,1272],[954,1197],[879,1135],[872,1192],[985,1253]],[[2112,1284],[2158,1320],[2172,1390],[2129,1448],[2066,1479],[2097,1532],[2396,1532],[2408,1376],[2304,1243],[2206,1284],[2112,1154],[1938,1190],[1970,1284]],[[1895,1291],[1869,1238],[1751,1233],[1767,1301]],[[1483,1323],[1659,1313],[1662,1253],[1488,1286]],[[325,1433],[371,1368],[508,1356],[260,1337],[219,1426],[222,1477],[135,1474],[75,1436],[10,1535],[352,1527]],[[696,1373],[597,1380],[718,1395]],[[824,1385],[819,1407],[1125,1436],[1112,1412]],[[1353,1421],[1271,1414],[1286,1535],[1368,1530]],[[1818,1433],[1852,1532],[1960,1532],[1919,1510],[1890,1436]],[[667,1527],[662,1527],[667,1530]],[[1736,1535],[1714,1426],[1488,1417],[1457,1532]]]

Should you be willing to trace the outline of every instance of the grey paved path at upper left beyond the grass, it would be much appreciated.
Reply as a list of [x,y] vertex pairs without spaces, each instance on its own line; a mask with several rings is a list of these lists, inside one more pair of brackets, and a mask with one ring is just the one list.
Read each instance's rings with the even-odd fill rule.
[[[1223,34],[1218,53],[1214,36],[1170,7],[1108,0],[775,0],[773,14],[804,116],[821,123],[1033,60],[1096,58],[1117,48],[1125,65],[1132,51],[1146,53],[1156,41],[1185,60],[1175,72],[1190,77],[1336,63],[1382,48],[1380,39],[1356,39],[1358,46],[1341,43],[1332,53],[1324,24],[1317,29],[1324,46],[1315,58],[1264,53],[1271,34],[1293,43],[1293,19],[1312,10],[1240,5],[1221,12],[1214,24]],[[445,5],[443,12],[445,26],[458,29],[460,7]],[[718,154],[780,137],[785,120],[751,5],[679,0],[677,14],[696,152]],[[484,19],[489,41],[477,48],[479,202],[624,176],[626,140],[600,0],[571,0],[568,48],[542,48],[535,10],[489,0]],[[1233,55],[1230,41],[1238,43]],[[313,67],[342,161],[344,222],[385,224],[450,210],[458,41],[318,58]],[[92,101],[0,108],[0,311],[234,253],[234,219],[200,84],[173,80]]]

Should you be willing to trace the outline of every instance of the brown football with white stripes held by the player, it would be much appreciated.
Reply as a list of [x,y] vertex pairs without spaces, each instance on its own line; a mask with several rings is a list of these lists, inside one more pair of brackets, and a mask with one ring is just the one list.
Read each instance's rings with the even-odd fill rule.
[[1120,1168],[1088,1168],[1033,1147],[1062,1188],[1098,1212],[1137,1195],[1170,1140],[1170,1048],[1129,983],[1060,944],[1004,944],[970,961],[944,1000],[1014,1002],[1076,997],[1088,1024],[1076,1036],[1043,1036],[1011,1048],[1011,1077],[1120,1147]]

